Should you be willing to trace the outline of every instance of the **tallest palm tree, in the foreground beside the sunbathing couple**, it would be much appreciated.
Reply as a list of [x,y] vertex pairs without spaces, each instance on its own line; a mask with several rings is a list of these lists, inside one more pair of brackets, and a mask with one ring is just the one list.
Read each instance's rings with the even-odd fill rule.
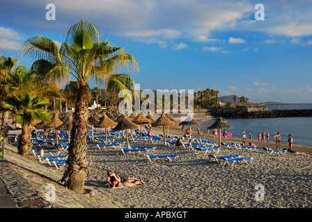
[[103,83],[120,69],[139,69],[137,60],[125,49],[101,42],[98,29],[81,19],[70,28],[59,50],[56,43],[40,35],[22,45],[24,55],[38,59],[34,66],[43,80],[68,80],[70,74],[77,80],[78,94],[72,121],[72,139],[68,148],[68,168],[61,182],[78,193],[84,191],[84,177],[90,173],[86,167],[86,135],[88,133],[88,102],[86,83]]

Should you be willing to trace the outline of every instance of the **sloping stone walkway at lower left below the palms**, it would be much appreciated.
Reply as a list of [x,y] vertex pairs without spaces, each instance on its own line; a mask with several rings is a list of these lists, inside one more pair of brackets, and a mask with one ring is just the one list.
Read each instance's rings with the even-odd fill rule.
[[[33,157],[33,156],[32,156]],[[123,205],[96,198],[91,189],[77,194],[58,182],[63,171],[17,154],[17,148],[5,145],[0,160],[1,208],[119,208]]]

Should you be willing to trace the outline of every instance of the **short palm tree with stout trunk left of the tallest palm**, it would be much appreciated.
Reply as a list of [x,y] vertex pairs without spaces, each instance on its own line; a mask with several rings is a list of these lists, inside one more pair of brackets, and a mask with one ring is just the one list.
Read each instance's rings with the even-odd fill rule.
[[2,105],[17,114],[16,122],[22,126],[22,133],[17,146],[17,153],[29,157],[31,152],[31,124],[33,120],[49,120],[50,114],[43,110],[49,103],[40,97],[20,94],[4,99]]

